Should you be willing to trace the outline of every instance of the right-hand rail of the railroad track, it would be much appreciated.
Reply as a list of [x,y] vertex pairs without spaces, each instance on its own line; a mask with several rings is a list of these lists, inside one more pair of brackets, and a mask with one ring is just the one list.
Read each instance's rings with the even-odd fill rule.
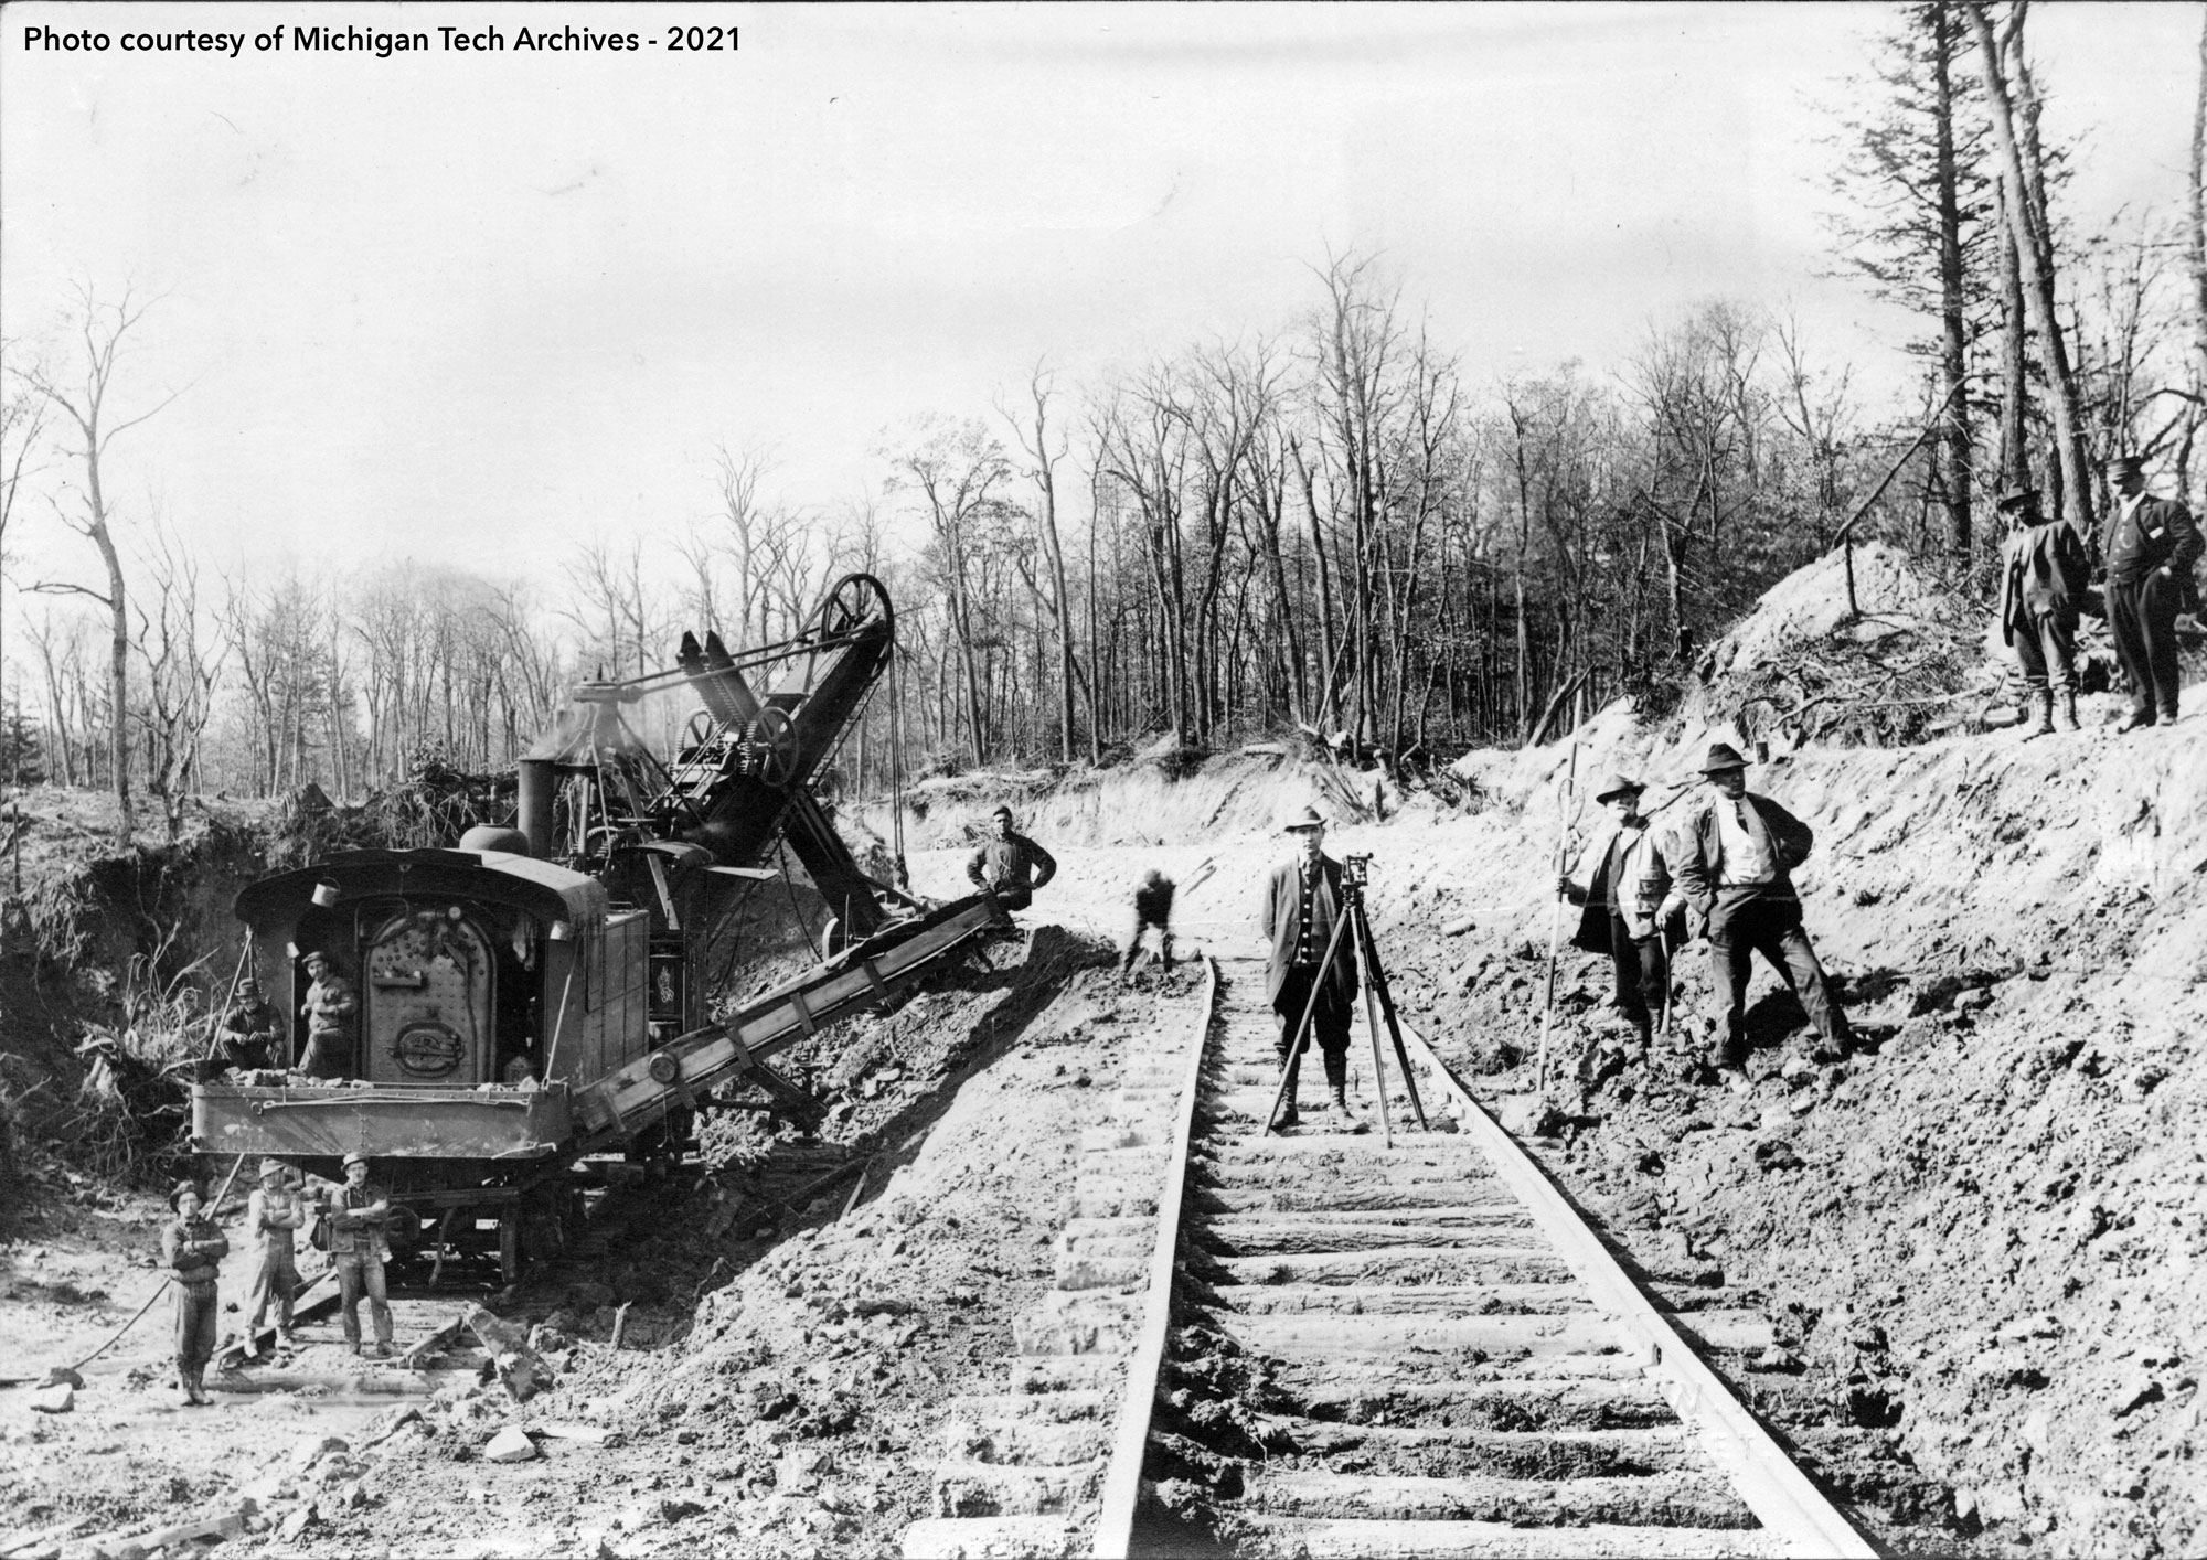
[[1611,1256],[1547,1169],[1527,1154],[1488,1108],[1401,1019],[1404,1039],[1459,1105],[1465,1134],[1488,1154],[1494,1172],[1532,1211],[1556,1253],[1578,1273],[1616,1324],[1644,1353],[1655,1383],[1677,1417],[1695,1432],[1717,1470],[1766,1529],[1796,1556],[1874,1560],[1883,1551],[1810,1481],[1770,1430],[1748,1412],[1724,1379],[1655,1308],[1640,1284]]

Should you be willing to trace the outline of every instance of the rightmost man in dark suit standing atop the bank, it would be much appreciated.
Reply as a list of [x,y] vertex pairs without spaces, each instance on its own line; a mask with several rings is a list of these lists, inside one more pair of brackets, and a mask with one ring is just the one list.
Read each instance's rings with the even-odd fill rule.
[[2119,730],[2136,730],[2176,719],[2176,613],[2192,602],[2192,565],[2207,543],[2185,505],[2145,492],[2141,457],[2117,455],[2105,470],[2117,494],[2101,538],[2108,629],[2130,680]]

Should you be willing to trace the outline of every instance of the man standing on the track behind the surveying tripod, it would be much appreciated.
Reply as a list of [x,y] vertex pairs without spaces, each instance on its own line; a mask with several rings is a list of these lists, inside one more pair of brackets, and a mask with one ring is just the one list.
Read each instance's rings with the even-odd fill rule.
[[1302,1053],[1311,1039],[1304,1035],[1293,1048],[1291,1041],[1304,1008],[1311,1013],[1311,1033],[1318,1035],[1318,1050],[1324,1055],[1333,1105],[1344,1119],[1348,1116],[1348,1004],[1357,995],[1357,955],[1348,947],[1346,927],[1340,938],[1333,936],[1346,913],[1346,900],[1342,863],[1324,850],[1326,821],[1318,816],[1318,808],[1302,808],[1289,814],[1280,830],[1296,843],[1296,856],[1265,878],[1258,927],[1269,951],[1265,1000],[1280,1026],[1276,1044],[1280,1066],[1287,1070],[1284,1103],[1271,1125],[1293,1128],[1302,1121],[1296,1110],[1296,1088],[1302,1077]]

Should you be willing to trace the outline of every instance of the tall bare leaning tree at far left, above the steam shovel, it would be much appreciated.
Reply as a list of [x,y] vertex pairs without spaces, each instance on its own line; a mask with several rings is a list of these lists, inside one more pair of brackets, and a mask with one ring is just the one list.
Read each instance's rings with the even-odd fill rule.
[[130,605],[124,591],[121,552],[115,547],[115,516],[108,507],[104,461],[108,457],[108,446],[113,446],[119,435],[137,428],[141,421],[159,413],[163,406],[174,402],[181,391],[170,391],[159,404],[137,417],[124,417],[117,424],[106,424],[108,395],[115,391],[117,357],[121,353],[124,335],[128,335],[130,329],[146,318],[152,300],[135,302],[126,289],[119,302],[102,304],[88,285],[77,289],[77,300],[79,309],[75,331],[84,346],[84,362],[79,368],[71,371],[64,380],[60,368],[33,364],[22,371],[22,377],[40,397],[60,406],[62,415],[77,432],[75,455],[84,461],[84,488],[77,494],[77,507],[73,512],[62,505],[55,505],[55,510],[71,530],[88,538],[93,547],[99,549],[99,560],[108,571],[108,587],[106,591],[97,591],[86,585],[42,580],[31,589],[90,596],[108,609],[108,697],[113,704],[108,750],[115,768],[115,803],[121,810],[121,836],[130,838],[137,827],[130,805]]

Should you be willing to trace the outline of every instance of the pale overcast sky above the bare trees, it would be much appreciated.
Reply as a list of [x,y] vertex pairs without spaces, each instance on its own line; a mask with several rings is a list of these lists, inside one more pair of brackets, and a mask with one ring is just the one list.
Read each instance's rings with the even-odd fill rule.
[[[669,53],[735,22],[735,53]],[[770,488],[878,483],[883,430],[1284,327],[1329,245],[1384,254],[1474,384],[1609,366],[1708,296],[1907,373],[1909,322],[1830,278],[1821,137],[1878,7],[9,4],[0,309],[161,293],[117,444],[218,563],[450,558],[554,578],[578,538]],[[254,33],[282,26],[260,53]],[[294,26],[426,31],[300,53]],[[503,53],[435,49],[497,26]],[[95,29],[106,53],[29,49]],[[521,53],[521,26],[658,40]],[[124,53],[243,33],[241,57]],[[2174,210],[2196,4],[2039,4],[2083,223]],[[84,543],[33,510],[18,576]],[[11,602],[13,616],[13,602]]]

